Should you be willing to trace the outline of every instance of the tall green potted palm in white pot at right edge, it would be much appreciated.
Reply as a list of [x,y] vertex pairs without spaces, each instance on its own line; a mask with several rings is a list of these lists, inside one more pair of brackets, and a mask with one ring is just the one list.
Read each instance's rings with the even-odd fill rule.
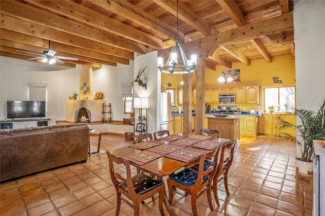
[[280,130],[296,130],[296,136],[281,132],[284,135],[282,138],[298,145],[301,158],[297,158],[297,160],[312,162],[314,157],[313,139],[325,139],[325,100],[317,112],[295,109],[295,115],[298,117],[296,124],[280,120]]

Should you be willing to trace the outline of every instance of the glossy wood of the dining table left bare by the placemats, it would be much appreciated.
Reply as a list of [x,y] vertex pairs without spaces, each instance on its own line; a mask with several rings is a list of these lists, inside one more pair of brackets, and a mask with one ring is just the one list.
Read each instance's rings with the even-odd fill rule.
[[[186,134],[186,133],[180,133],[179,135],[183,135],[185,137],[190,137],[193,136],[194,134]],[[207,140],[213,140],[216,142],[220,142],[220,145],[222,145],[223,143],[227,143],[230,142],[230,139],[225,139],[225,138],[216,138],[216,137],[211,137]],[[194,148],[194,147],[190,147],[189,148],[193,148],[193,149],[198,149],[198,148]],[[217,148],[217,147],[216,147]],[[202,151],[208,152],[211,150],[204,150],[204,149],[200,149]],[[114,149],[114,150],[110,150],[110,153],[118,156],[118,157],[122,157],[125,158],[129,155],[133,155],[135,153],[139,153],[142,150],[136,149],[136,148],[132,148],[132,147],[121,147],[118,149]],[[191,167],[194,164],[197,164],[200,161],[200,157],[198,156],[188,162],[183,162],[180,160],[176,160],[173,158],[169,158],[166,156],[162,156],[159,157],[155,160],[149,161],[145,164],[139,165],[137,163],[134,163],[132,161],[129,161],[131,165],[139,168],[140,170],[144,171],[144,172],[148,172],[150,174],[154,174],[157,179],[161,182],[163,182],[163,177],[164,176],[169,176],[173,173],[175,173],[177,170],[181,169],[181,168],[185,168],[185,167]],[[169,212],[170,215],[176,215],[176,213],[174,212],[174,210],[172,209],[171,204],[169,203],[167,194],[165,193],[164,195],[164,203],[165,206],[167,208],[167,211]]]

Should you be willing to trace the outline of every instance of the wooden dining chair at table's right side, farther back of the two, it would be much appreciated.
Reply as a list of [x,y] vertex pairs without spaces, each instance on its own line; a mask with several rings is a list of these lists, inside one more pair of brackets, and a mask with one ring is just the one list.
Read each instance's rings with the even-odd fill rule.
[[220,182],[222,179],[223,179],[225,192],[227,196],[230,195],[228,189],[228,171],[230,166],[233,163],[236,142],[237,140],[233,140],[232,142],[226,143],[225,148],[221,151],[222,158],[220,157],[218,169],[213,178],[213,194],[218,206],[220,206],[219,199],[218,199],[218,192],[217,192],[218,182]]

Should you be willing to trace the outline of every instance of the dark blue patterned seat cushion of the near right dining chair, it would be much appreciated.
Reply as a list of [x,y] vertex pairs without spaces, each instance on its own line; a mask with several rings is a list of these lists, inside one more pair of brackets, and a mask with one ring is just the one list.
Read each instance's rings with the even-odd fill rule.
[[[198,171],[189,169],[189,168],[185,168],[182,171],[172,175],[170,178],[172,178],[174,181],[179,182],[183,185],[193,186],[197,182]],[[204,183],[208,179],[209,179],[209,176],[204,175],[202,183]]]

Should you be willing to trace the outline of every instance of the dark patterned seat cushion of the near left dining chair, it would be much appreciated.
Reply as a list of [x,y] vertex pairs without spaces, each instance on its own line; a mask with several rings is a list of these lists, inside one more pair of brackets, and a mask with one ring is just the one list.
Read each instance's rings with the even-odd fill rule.
[[[157,179],[153,179],[152,177],[140,172],[139,174],[132,177],[133,187],[137,194],[141,195],[151,191],[158,185],[162,185],[164,183],[158,181]],[[120,183],[119,186],[127,191],[126,183]]]

